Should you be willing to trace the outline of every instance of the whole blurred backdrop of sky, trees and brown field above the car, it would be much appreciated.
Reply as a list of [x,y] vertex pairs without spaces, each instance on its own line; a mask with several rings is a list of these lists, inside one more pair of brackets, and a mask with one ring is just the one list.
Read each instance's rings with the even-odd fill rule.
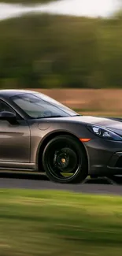
[[0,2],[0,88],[95,115],[122,113],[120,0]]

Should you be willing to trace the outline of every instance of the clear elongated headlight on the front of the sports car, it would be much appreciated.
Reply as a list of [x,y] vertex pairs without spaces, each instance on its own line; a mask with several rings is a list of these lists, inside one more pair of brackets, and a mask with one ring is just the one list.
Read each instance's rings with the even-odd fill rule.
[[122,137],[120,137],[120,135],[117,135],[115,132],[111,132],[106,128],[102,128],[97,125],[87,125],[87,128],[90,132],[93,132],[100,138],[110,140],[122,140]]

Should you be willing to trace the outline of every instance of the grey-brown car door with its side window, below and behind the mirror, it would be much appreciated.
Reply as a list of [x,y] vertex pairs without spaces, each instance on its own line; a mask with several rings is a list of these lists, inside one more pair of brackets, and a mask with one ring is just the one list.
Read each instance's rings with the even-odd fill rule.
[[[14,110],[0,100],[0,112]],[[0,119],[0,166],[2,162],[28,163],[30,161],[30,128],[28,122],[17,118],[17,124]],[[4,165],[7,166],[7,165]]]

